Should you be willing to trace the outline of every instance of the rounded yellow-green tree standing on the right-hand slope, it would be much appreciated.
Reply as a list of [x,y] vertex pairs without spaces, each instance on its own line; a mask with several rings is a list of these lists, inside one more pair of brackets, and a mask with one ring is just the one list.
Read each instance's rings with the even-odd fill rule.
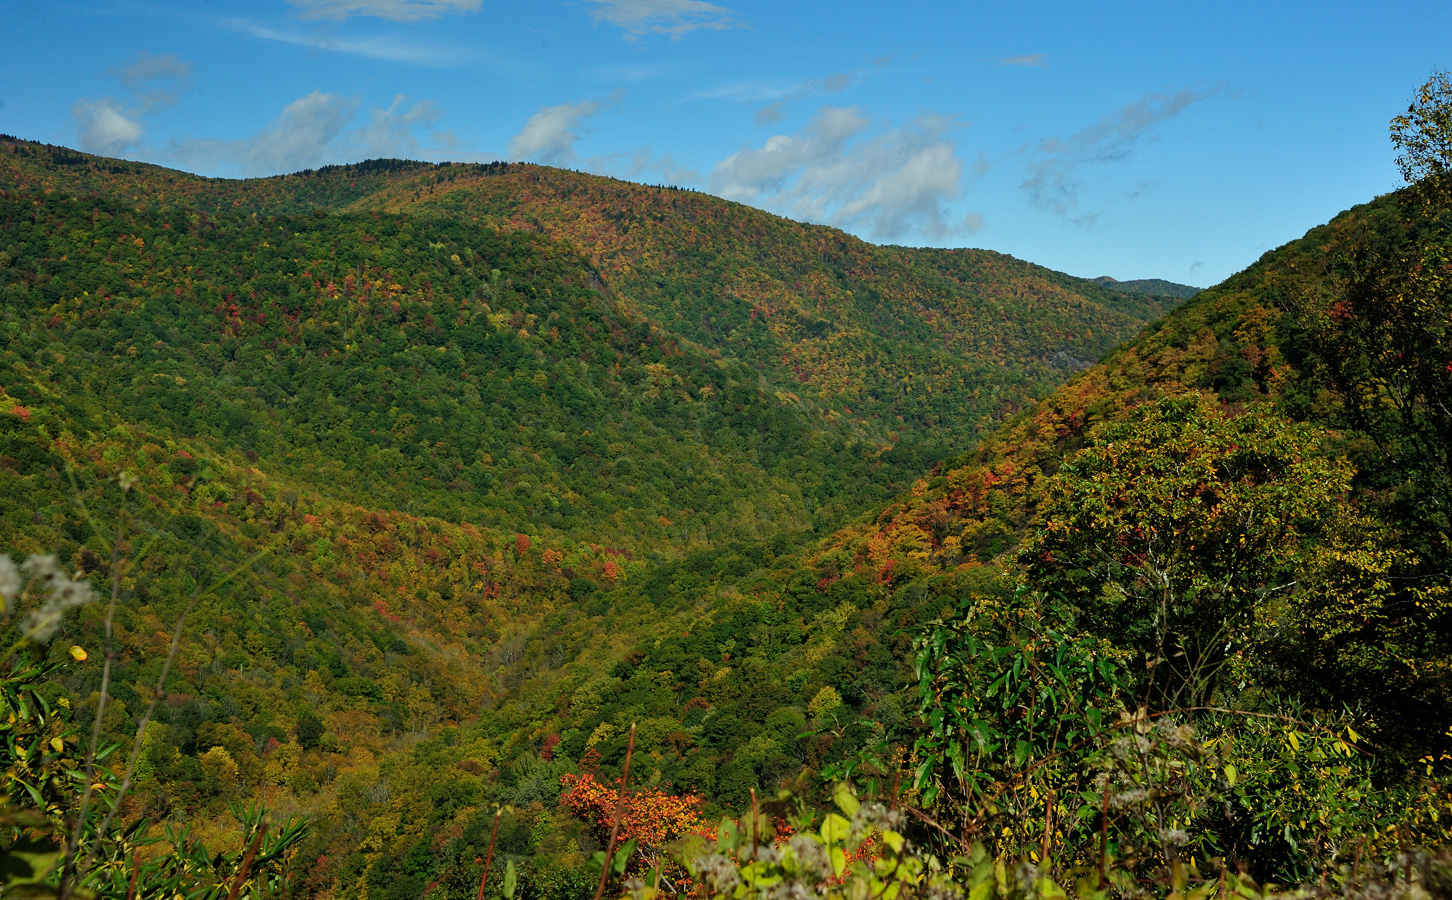
[[1316,428],[1263,406],[1147,404],[1048,480],[1022,560],[1080,627],[1144,659],[1160,701],[1204,701],[1350,476]]

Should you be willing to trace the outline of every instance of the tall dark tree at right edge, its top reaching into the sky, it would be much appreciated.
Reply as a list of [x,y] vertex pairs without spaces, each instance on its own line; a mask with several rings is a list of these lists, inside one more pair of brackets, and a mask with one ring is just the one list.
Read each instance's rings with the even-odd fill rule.
[[1376,710],[1384,746],[1417,758],[1446,750],[1452,703],[1452,74],[1391,139],[1411,189],[1331,231],[1321,277],[1286,296],[1298,390],[1359,472],[1278,658],[1297,692]]

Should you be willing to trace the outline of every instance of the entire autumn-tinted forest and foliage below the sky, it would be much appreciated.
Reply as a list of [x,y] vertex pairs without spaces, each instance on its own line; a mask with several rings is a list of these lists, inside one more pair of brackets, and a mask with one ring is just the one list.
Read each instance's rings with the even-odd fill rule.
[[1446,890],[1446,109],[1392,123],[1407,189],[1179,308],[534,165],[4,139],[6,859]]

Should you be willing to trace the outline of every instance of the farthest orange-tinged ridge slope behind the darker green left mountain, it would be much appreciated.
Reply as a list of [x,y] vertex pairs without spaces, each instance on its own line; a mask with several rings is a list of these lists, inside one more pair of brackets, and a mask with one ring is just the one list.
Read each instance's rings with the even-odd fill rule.
[[950,443],[1178,302],[992,251],[874,247],[709,195],[534,165],[440,168],[353,209],[568,240],[664,328],[836,412]]

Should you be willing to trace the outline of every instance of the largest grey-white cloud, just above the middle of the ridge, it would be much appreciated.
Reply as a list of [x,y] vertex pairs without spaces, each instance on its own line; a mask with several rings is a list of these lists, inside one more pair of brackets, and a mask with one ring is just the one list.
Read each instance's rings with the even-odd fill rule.
[[963,161],[947,138],[955,123],[922,116],[906,128],[867,136],[854,107],[825,106],[794,135],[775,135],[716,164],[711,189],[730,200],[860,229],[877,240],[941,240],[982,228],[953,221]]

